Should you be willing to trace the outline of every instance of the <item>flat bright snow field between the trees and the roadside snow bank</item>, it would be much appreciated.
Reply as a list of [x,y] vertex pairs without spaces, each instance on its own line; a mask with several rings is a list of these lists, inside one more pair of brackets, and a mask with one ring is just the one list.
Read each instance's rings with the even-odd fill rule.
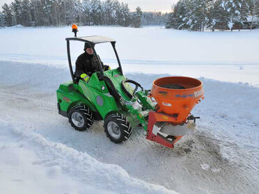
[[[259,31],[189,32],[150,27],[79,27],[78,36],[106,35],[116,48],[125,72],[178,74],[219,81],[259,84]],[[65,28],[0,29],[0,58],[68,68]],[[71,42],[72,59],[83,51],[83,43]],[[97,45],[102,60],[111,65],[116,58],[111,45]]]

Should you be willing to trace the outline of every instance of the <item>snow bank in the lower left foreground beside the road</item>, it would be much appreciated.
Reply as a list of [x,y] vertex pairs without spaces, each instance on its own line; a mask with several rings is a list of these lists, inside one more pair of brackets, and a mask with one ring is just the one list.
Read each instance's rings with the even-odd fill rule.
[[175,193],[4,120],[0,139],[3,193]]

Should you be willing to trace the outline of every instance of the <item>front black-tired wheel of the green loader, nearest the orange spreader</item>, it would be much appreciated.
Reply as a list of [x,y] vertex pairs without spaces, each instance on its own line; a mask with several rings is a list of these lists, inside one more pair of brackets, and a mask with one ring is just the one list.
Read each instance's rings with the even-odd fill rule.
[[109,115],[109,117],[105,118],[104,132],[112,142],[122,143],[130,138],[132,134],[132,127],[130,127],[130,122],[128,122],[123,115],[117,113]]

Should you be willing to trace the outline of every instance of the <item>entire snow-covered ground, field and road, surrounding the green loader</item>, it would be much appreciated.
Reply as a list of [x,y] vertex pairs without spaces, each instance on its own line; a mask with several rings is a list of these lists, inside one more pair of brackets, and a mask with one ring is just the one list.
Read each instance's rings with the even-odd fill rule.
[[[143,129],[122,145],[102,122],[74,131],[55,96],[71,79],[70,28],[0,29],[0,193],[258,193],[259,31],[91,26],[79,35],[116,39],[126,76],[145,88],[168,74],[201,79],[198,131],[174,149]],[[82,48],[72,44],[74,60]],[[116,66],[110,46],[96,49]]]

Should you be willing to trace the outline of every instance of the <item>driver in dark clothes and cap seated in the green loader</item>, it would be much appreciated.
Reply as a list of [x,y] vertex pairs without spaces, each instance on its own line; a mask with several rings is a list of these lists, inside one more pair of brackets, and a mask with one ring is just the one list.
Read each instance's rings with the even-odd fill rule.
[[[100,57],[97,56],[99,59]],[[100,60],[101,61],[101,60]],[[102,64],[102,70],[110,70],[111,68],[108,65]],[[83,78],[85,81],[88,81],[93,73],[100,71],[100,68],[97,63],[97,58],[93,54],[93,49],[91,45],[87,42],[84,44],[84,53],[81,54],[76,61],[76,70],[75,75],[77,78]]]

